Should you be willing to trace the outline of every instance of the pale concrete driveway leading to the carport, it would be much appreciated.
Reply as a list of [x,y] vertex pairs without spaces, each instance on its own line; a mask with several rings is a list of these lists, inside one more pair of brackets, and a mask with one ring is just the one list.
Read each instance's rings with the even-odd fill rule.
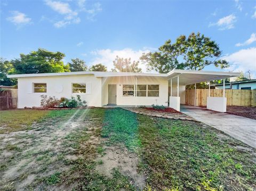
[[182,105],[180,111],[256,148],[256,120]]

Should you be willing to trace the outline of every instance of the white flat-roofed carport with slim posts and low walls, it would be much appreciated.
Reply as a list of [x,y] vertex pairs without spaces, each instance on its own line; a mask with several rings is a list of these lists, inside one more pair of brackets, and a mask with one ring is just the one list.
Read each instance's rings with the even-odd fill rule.
[[[225,97],[225,79],[239,76],[239,72],[213,72],[195,70],[172,70],[167,73],[170,86],[169,106],[180,111],[180,93],[187,85],[208,82],[209,96],[207,97],[207,109],[219,112],[226,112],[227,98]],[[223,79],[223,97],[210,97],[210,81]],[[196,96],[195,96],[196,97]],[[195,100],[196,104],[196,100]]]

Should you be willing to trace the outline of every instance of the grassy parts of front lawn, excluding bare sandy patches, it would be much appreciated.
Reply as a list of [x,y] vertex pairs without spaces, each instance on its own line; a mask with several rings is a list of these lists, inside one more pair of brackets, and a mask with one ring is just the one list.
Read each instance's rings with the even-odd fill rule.
[[[1,125],[6,124],[9,131],[17,131],[29,129],[31,123],[36,121],[38,128],[52,125],[61,128],[71,117],[82,120],[85,125],[63,136],[62,150],[34,150],[22,156],[25,159],[34,158],[36,163],[42,164],[38,173],[50,168],[53,162],[61,164],[60,167],[68,167],[66,171],[54,169],[52,175],[40,177],[34,187],[44,184],[47,189],[47,186],[58,187],[76,182],[74,190],[135,190],[129,177],[117,169],[113,169],[111,178],[95,171],[96,165],[104,164],[102,160],[97,160],[97,156],[104,154],[105,146],[120,144],[140,157],[137,167],[139,172],[146,172],[145,190],[252,190],[256,185],[253,156],[250,152],[238,151],[230,146],[245,145],[231,138],[220,140],[217,130],[202,128],[202,124],[197,122],[147,117],[120,108],[97,108],[4,111],[1,112]],[[93,127],[91,135],[87,134],[88,127]],[[17,136],[27,138],[22,137],[25,135]],[[33,138],[33,135],[29,136]],[[93,146],[87,143],[90,136],[104,139],[98,146]],[[54,137],[51,141],[54,143]],[[6,144],[4,149],[16,153],[13,159],[8,160],[21,160],[18,158],[22,149],[20,145]],[[78,158],[67,160],[66,155],[73,154]],[[8,169],[9,164],[9,161],[2,163],[0,169]]]

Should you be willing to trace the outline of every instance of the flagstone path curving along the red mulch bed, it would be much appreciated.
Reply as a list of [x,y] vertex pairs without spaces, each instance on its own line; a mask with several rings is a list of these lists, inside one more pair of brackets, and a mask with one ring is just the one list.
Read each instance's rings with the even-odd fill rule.
[[196,121],[195,119],[185,115],[183,113],[167,113],[167,112],[160,112],[160,111],[151,111],[142,109],[139,107],[122,107],[124,110],[131,111],[133,113],[138,113],[142,115],[148,115],[151,117],[158,117],[158,118],[167,118],[167,119],[179,119],[179,120],[189,120],[189,121]]

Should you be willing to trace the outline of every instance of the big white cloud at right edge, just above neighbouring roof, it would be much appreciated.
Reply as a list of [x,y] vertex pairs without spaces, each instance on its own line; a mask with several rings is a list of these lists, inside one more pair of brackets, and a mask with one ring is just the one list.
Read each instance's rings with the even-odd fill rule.
[[229,71],[246,72],[251,70],[253,78],[256,77],[256,47],[241,49],[223,59],[230,63]]

